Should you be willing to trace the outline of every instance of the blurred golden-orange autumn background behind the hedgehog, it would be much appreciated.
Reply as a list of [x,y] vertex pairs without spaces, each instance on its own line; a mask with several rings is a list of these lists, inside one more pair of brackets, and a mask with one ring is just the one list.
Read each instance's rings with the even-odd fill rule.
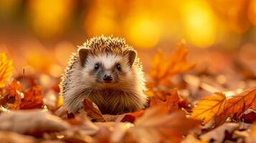
[[0,0],[0,51],[16,75],[25,69],[47,84],[77,45],[101,34],[124,37],[146,72],[158,49],[169,55],[182,41],[196,75],[240,81],[234,87],[255,79],[256,0]]

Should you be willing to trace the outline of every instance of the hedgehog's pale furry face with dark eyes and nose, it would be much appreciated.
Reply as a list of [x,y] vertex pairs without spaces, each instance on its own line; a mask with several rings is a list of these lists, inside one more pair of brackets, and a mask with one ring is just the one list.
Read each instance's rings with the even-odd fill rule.
[[82,78],[85,78],[92,88],[118,88],[120,84],[131,84],[131,79],[134,79],[131,56],[134,61],[134,52],[125,56],[110,53],[88,55],[82,68]]

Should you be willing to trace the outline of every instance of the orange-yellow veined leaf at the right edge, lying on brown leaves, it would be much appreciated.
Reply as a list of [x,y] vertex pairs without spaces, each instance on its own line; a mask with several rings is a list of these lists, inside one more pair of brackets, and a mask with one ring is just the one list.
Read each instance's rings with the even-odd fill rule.
[[203,97],[194,107],[191,114],[193,119],[202,119],[204,124],[214,119],[214,124],[219,126],[227,117],[237,119],[247,109],[256,109],[256,87],[234,95],[225,97],[222,93],[214,96]]

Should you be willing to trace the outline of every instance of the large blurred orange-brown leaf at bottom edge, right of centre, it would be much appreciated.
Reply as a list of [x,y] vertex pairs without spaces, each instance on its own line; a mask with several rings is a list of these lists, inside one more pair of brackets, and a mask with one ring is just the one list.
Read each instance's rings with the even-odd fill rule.
[[179,141],[181,135],[196,127],[199,121],[187,119],[184,112],[168,114],[166,108],[153,107],[147,109],[141,118],[134,123],[130,132],[138,142]]

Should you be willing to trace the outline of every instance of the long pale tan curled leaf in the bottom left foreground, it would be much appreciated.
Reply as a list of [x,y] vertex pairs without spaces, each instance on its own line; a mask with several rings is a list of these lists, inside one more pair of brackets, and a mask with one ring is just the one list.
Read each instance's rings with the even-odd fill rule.
[[42,134],[60,132],[70,127],[59,117],[42,110],[11,111],[0,115],[0,130],[20,134]]

